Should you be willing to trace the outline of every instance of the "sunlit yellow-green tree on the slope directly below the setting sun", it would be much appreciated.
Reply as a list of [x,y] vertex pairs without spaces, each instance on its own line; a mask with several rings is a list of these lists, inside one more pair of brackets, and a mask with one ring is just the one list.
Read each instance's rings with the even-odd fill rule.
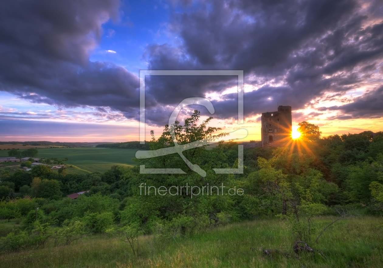
[[323,204],[337,186],[327,183],[322,173],[310,167],[314,157],[291,153],[288,148],[273,150],[269,160],[259,158],[260,170],[250,174],[254,188],[264,196],[266,206],[280,210],[280,217],[297,240],[311,241],[318,233],[314,217],[326,210]]

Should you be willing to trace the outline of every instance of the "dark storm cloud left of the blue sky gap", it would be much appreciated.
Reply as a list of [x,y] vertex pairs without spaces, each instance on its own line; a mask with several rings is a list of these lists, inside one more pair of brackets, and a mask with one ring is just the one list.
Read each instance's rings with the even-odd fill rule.
[[90,62],[101,24],[118,19],[119,0],[0,2],[0,90],[37,103],[110,106],[136,116],[138,78]]

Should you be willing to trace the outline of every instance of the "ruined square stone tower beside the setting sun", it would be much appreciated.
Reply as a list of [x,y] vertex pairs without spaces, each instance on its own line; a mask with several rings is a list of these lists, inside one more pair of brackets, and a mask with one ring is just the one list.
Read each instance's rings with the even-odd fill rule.
[[278,111],[262,113],[262,147],[275,141],[291,139],[291,106],[278,106]]

